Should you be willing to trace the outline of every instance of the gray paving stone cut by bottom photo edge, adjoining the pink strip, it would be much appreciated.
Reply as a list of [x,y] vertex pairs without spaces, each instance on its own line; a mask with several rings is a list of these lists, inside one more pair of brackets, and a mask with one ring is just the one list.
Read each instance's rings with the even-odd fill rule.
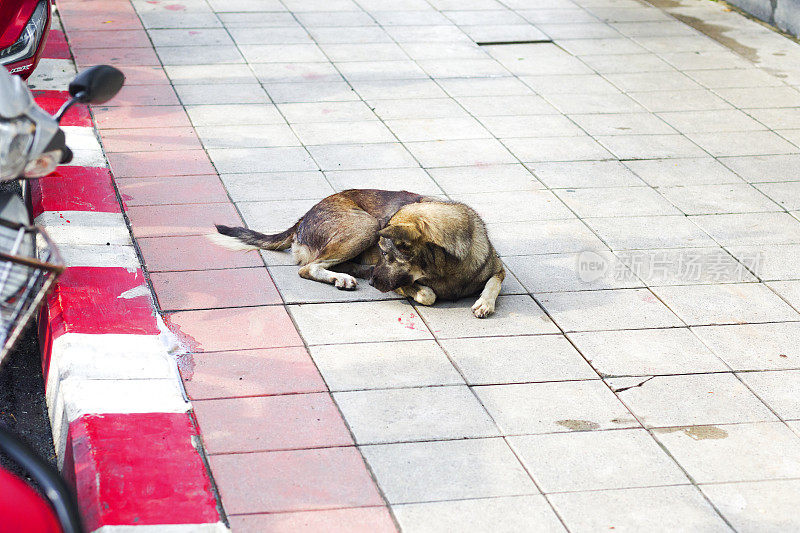
[[564,526],[542,496],[508,496],[392,506],[403,531],[438,533],[561,532]]

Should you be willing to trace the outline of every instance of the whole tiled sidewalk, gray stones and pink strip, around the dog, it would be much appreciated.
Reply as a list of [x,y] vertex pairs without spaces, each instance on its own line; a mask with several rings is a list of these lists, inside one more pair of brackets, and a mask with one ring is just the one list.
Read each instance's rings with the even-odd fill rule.
[[[800,46],[654,3],[62,9],[234,531],[800,528]],[[476,208],[497,314],[204,237],[352,187]]]

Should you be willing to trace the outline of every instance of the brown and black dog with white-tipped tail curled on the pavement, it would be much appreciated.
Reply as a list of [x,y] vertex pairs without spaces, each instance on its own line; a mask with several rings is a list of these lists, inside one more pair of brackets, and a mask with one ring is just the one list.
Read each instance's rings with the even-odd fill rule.
[[301,277],[356,288],[356,277],[381,292],[423,305],[481,295],[473,314],[494,312],[505,278],[483,220],[470,207],[407,191],[350,189],[328,196],[294,226],[266,235],[217,225],[217,244],[234,250],[286,250]]

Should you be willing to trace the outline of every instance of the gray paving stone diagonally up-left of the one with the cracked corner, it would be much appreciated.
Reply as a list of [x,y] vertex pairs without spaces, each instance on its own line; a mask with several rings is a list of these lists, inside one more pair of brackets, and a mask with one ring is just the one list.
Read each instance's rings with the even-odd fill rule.
[[470,385],[598,379],[561,335],[447,339],[440,344]]

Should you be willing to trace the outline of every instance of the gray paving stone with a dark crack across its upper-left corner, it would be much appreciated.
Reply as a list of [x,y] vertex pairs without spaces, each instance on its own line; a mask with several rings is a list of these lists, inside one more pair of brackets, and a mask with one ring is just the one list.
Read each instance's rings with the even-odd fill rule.
[[619,398],[645,427],[699,426],[777,420],[731,373],[614,378]]

